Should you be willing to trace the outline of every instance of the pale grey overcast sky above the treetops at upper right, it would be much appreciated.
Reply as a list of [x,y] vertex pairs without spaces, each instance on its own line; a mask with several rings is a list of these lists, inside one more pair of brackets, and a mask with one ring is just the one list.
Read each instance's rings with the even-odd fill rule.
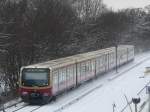
[[123,8],[140,8],[150,5],[150,0],[103,0],[103,2],[114,10]]

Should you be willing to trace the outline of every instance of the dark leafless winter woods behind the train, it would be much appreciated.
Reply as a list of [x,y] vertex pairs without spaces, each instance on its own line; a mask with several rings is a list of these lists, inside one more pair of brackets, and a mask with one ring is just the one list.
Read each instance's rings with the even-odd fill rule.
[[116,44],[150,49],[150,5],[113,11],[101,0],[0,0],[0,71],[16,89],[21,66]]

